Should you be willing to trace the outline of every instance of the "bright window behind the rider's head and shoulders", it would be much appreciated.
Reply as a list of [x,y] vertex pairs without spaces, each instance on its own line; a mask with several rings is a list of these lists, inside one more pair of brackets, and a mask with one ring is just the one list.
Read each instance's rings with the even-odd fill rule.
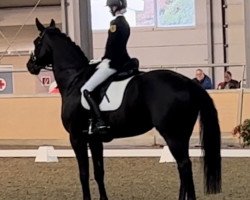
[[[127,0],[127,3],[125,16],[131,27],[195,25],[195,0]],[[91,0],[93,30],[109,28],[113,19],[109,12],[106,0]]]

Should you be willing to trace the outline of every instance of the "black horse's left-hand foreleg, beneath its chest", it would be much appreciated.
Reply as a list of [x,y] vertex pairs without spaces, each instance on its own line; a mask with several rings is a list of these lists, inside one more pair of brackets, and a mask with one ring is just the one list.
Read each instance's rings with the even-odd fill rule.
[[75,152],[82,185],[83,200],[91,200],[89,189],[89,158],[87,143],[81,137],[70,136],[71,146]]

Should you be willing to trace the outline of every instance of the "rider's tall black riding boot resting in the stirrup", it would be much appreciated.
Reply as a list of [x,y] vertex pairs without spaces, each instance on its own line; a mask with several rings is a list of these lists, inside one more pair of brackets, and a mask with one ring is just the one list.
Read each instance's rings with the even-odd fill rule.
[[91,111],[94,113],[94,117],[96,119],[96,123],[94,123],[93,133],[98,134],[107,134],[109,127],[103,121],[101,117],[101,111],[99,106],[96,104],[95,100],[91,97],[90,92],[88,90],[83,91],[84,97],[88,102]]

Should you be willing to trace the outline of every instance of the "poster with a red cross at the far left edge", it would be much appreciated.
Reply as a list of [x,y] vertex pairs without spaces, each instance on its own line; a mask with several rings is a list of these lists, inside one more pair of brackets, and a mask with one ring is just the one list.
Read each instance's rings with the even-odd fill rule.
[[0,65],[0,95],[13,94],[12,65]]

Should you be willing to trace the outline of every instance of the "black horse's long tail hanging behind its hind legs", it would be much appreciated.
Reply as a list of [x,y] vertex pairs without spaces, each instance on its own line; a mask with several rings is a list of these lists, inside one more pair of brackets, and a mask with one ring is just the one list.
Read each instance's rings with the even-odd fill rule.
[[[204,159],[204,185],[208,194],[221,192],[221,132],[217,110],[209,94],[199,89],[200,139]],[[196,94],[197,96],[197,94]]]

